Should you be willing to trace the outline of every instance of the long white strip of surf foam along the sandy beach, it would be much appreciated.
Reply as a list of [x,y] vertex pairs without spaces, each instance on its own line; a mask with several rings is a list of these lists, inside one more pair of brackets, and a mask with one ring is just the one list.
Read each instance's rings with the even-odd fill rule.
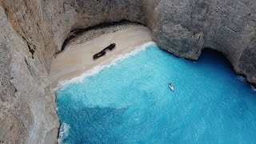
[[131,51],[130,53],[127,54],[119,54],[117,58],[115,58],[110,64],[108,65],[103,65],[103,66],[94,66],[90,70],[86,70],[85,73],[81,74],[78,77],[71,78],[70,80],[63,80],[61,82],[58,82],[58,86],[54,90],[63,90],[66,88],[66,86],[69,86],[72,83],[80,83],[85,80],[85,78],[93,76],[95,74],[98,74],[100,71],[106,68],[110,68],[110,66],[115,66],[118,62],[122,62],[122,60],[129,58],[130,56],[133,56],[135,54],[138,54],[140,51],[146,50],[146,48],[150,46],[157,46],[156,42],[146,42],[142,46],[136,47],[135,50]]

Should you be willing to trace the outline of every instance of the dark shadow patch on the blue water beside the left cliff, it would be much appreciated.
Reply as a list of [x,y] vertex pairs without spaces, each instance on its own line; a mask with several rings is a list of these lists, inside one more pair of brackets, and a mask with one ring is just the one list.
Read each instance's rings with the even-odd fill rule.
[[85,107],[82,110],[66,110],[69,110],[69,118],[65,120],[68,121],[66,123],[70,130],[69,137],[64,139],[64,143],[122,142],[122,138],[113,134],[113,127],[122,123],[122,115],[126,109]]

